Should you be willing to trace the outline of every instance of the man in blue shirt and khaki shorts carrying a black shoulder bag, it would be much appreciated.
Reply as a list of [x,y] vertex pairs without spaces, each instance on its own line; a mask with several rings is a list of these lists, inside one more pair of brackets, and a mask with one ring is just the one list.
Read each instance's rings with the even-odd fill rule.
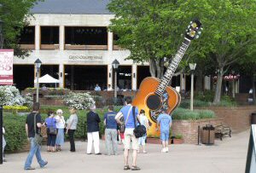
[[[124,170],[141,170],[137,167],[137,150],[139,149],[138,139],[134,136],[133,130],[135,129],[135,123],[138,119],[138,108],[134,107],[134,111],[132,110],[131,106],[131,96],[127,96],[125,98],[125,107],[122,107],[121,110],[117,113],[115,119],[119,124],[124,122],[120,121],[120,118],[124,117],[125,119],[125,151],[124,151],[124,158],[125,158],[125,167]],[[134,115],[133,115],[134,113]],[[134,118],[136,120],[134,120]],[[129,149],[132,146],[132,166],[130,168],[128,164],[129,159]]]

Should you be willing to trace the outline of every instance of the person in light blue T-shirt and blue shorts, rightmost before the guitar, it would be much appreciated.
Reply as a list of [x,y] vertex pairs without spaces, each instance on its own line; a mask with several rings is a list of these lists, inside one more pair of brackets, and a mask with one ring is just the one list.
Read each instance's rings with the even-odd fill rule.
[[160,126],[160,140],[162,141],[162,153],[168,153],[169,132],[172,126],[172,117],[166,113],[166,109],[162,109],[162,113],[157,118],[157,129]]

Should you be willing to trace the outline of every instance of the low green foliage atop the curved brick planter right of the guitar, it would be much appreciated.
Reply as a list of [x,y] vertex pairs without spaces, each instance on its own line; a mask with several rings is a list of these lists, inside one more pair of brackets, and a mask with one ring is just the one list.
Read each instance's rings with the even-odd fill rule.
[[172,113],[173,119],[201,119],[201,118],[215,118],[215,113],[210,110],[194,110],[190,111],[189,109],[177,108]]

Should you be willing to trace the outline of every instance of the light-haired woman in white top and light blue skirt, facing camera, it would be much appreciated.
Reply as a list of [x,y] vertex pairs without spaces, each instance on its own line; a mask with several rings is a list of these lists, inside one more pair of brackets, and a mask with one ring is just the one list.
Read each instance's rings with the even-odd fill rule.
[[64,144],[64,128],[65,128],[65,119],[62,116],[62,110],[58,109],[56,111],[56,128],[58,130],[58,134],[56,136],[56,142],[55,142],[55,146],[56,146],[56,150],[57,151],[61,151],[61,145]]

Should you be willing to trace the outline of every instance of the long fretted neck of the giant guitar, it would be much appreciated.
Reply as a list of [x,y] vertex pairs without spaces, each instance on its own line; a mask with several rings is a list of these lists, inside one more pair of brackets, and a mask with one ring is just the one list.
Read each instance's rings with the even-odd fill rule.
[[172,79],[173,73],[176,71],[178,64],[183,58],[183,55],[185,54],[186,50],[189,48],[190,40],[186,37],[184,37],[184,41],[180,48],[177,50],[176,55],[174,56],[172,63],[170,66],[168,66],[166,73],[164,74],[164,77],[161,78],[160,84],[158,85],[155,94],[156,95],[163,95],[163,93],[166,90],[166,86],[170,83],[170,80]]

